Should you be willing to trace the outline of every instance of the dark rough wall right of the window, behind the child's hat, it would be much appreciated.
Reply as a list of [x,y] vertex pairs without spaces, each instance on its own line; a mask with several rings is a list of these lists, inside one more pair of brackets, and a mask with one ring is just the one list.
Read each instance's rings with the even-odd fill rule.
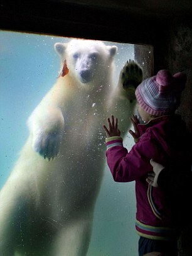
[[188,80],[181,97],[178,112],[192,131],[192,23],[172,20],[164,36],[154,45],[154,72],[169,69],[172,74],[186,73]]

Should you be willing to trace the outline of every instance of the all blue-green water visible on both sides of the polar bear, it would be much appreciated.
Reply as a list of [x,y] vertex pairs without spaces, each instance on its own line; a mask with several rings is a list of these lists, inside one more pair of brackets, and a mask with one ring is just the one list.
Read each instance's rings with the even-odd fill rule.
[[[0,31],[0,188],[28,137],[29,114],[58,76],[60,60],[53,45],[68,40],[70,38]],[[124,63],[134,58],[134,46],[123,43],[117,46],[119,53],[115,62],[119,74]],[[127,141],[131,147],[131,138],[127,137],[125,146]],[[88,256],[136,256],[135,212],[134,182],[115,183],[106,167],[95,207]]]

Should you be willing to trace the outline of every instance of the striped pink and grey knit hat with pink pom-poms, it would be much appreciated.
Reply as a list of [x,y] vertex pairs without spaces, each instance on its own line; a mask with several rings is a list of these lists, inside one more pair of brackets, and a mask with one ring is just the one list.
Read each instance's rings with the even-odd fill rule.
[[171,114],[179,107],[185,84],[186,74],[178,72],[172,76],[168,70],[160,70],[157,75],[139,84],[136,89],[137,102],[153,116]]

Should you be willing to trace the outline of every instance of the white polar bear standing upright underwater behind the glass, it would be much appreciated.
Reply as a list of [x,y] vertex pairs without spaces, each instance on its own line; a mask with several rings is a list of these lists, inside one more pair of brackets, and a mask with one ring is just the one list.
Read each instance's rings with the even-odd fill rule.
[[102,124],[125,133],[142,70],[125,64],[113,86],[116,46],[56,43],[60,75],[29,116],[29,137],[0,193],[0,255],[85,256],[102,182]]

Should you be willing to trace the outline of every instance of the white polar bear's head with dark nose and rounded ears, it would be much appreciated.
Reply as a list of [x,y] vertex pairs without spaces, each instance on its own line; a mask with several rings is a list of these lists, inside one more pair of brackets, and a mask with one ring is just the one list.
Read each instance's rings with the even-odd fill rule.
[[114,56],[117,47],[107,46],[101,41],[72,39],[68,43],[55,43],[55,50],[61,57],[61,67],[67,60],[71,77],[81,85],[108,82],[114,72]]

